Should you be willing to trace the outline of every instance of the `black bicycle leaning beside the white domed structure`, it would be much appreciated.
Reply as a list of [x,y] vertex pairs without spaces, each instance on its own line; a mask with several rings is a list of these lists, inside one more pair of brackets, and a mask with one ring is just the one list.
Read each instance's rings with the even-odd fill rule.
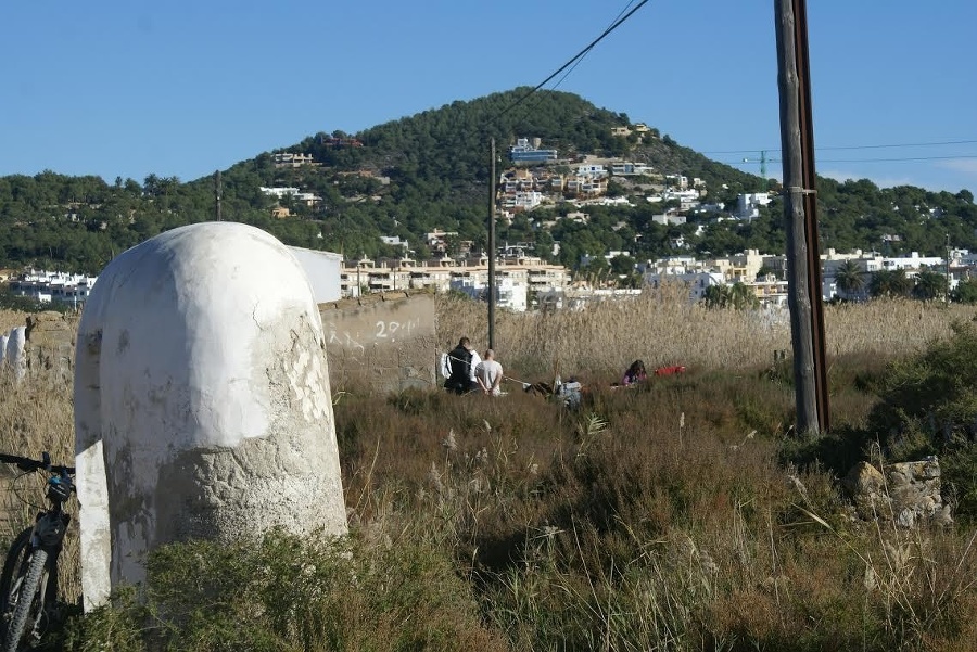
[[50,474],[45,490],[50,507],[14,539],[0,574],[0,652],[20,652],[37,645],[59,617],[58,558],[71,522],[64,503],[75,493],[75,469],[51,464],[48,452],[40,460],[0,453],[0,462],[16,464],[24,474]]

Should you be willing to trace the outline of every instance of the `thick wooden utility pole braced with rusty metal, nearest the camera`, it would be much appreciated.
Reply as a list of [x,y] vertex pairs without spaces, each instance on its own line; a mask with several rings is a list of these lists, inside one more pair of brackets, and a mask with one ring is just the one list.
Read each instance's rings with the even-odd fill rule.
[[810,434],[830,423],[805,0],[774,0],[774,12],[797,430]]

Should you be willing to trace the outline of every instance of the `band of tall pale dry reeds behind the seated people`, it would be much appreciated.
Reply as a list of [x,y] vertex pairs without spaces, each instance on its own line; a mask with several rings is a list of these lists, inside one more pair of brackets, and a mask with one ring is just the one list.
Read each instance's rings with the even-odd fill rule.
[[[953,320],[972,319],[972,306],[879,299],[825,307],[828,356],[891,357],[946,337]],[[439,297],[437,336],[445,350],[468,335],[487,345],[484,303]],[[743,370],[765,366],[774,351],[789,354],[790,318],[784,309],[709,309],[690,304],[684,287],[667,285],[633,299],[602,301],[580,310],[499,311],[496,349],[512,371],[563,374],[619,373],[640,358],[648,368],[685,365]]]

